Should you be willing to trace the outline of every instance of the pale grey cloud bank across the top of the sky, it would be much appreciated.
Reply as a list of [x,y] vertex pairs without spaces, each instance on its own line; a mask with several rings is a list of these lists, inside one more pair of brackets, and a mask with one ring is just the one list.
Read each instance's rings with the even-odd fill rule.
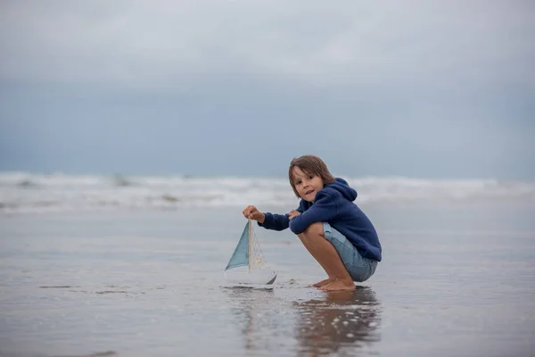
[[321,86],[532,87],[530,2],[4,2],[2,79],[181,87],[207,74]]

